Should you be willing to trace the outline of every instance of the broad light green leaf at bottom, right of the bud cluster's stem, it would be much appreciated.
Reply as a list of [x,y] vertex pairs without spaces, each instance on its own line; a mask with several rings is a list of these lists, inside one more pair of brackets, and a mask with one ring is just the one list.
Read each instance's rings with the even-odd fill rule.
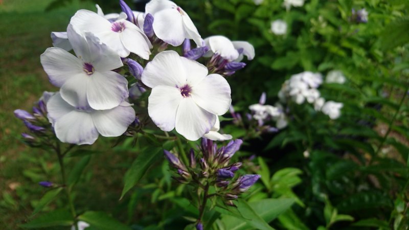
[[238,204],[238,211],[243,218],[222,215],[222,222],[229,230],[272,229],[267,223],[288,210],[293,203],[292,198],[263,199],[248,204],[242,201]]

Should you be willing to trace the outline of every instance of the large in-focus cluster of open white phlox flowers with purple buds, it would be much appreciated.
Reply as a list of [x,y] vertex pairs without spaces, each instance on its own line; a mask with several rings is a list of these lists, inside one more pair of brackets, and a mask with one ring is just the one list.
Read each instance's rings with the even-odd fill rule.
[[[191,141],[232,139],[219,133],[218,116],[231,105],[225,77],[245,66],[244,56],[254,58],[253,45],[218,35],[202,39],[169,0],[151,0],[145,12],[119,3],[120,13],[104,14],[98,5],[97,12],[79,10],[66,32],[51,33],[54,47],[40,57],[60,88],[44,104],[50,130],[77,145],[93,144],[99,135],[129,135],[129,126],[140,124],[132,102],[146,92],[148,116],[161,130],[175,129]],[[166,51],[169,46],[181,53]],[[206,65],[199,58],[208,58]]]

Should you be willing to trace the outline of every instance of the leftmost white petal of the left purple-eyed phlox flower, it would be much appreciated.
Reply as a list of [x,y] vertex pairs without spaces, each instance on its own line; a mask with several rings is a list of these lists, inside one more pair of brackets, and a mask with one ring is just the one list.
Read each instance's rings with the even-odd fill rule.
[[57,47],[48,48],[40,56],[40,62],[50,82],[61,87],[72,76],[83,72],[81,61],[74,55]]

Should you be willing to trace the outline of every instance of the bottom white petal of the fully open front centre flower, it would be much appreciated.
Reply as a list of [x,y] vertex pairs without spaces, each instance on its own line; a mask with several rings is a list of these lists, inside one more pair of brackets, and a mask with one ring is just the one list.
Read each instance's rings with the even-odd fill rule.
[[196,141],[209,132],[216,115],[200,108],[188,97],[180,101],[176,112],[176,131],[190,141]]

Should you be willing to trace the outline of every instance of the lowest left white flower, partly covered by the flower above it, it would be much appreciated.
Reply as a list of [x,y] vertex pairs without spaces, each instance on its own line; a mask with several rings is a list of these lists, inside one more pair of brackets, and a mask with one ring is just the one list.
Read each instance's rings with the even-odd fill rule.
[[60,93],[50,98],[47,110],[57,138],[77,145],[93,144],[99,134],[120,136],[135,120],[135,111],[126,101],[112,109],[95,110],[83,104],[70,105]]

